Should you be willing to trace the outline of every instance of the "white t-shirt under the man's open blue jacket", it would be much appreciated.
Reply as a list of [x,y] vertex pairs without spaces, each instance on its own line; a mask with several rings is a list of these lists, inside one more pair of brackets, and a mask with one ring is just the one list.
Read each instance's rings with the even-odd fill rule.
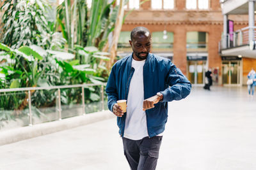
[[145,60],[132,59],[135,71],[131,79],[127,98],[127,115],[125,119],[124,137],[140,140],[148,136],[146,113],[143,111],[144,85],[143,66]]

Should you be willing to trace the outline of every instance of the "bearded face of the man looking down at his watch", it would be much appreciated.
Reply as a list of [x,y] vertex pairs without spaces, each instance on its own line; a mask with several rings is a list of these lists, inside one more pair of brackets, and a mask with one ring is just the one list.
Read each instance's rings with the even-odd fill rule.
[[144,35],[136,35],[129,41],[132,51],[134,53],[134,60],[145,60],[147,59],[148,53],[151,47],[151,36],[150,33]]

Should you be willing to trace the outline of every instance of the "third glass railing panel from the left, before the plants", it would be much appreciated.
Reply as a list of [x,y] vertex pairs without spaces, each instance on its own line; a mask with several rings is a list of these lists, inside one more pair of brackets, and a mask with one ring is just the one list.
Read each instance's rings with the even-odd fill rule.
[[61,118],[83,115],[82,87],[60,89]]

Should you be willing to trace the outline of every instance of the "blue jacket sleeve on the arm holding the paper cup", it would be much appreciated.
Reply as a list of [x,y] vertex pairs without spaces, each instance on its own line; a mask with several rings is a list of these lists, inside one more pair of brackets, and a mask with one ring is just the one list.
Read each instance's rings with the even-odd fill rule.
[[115,76],[115,65],[111,69],[111,73],[108,78],[106,85],[106,94],[108,95],[108,108],[113,111],[113,106],[118,100],[118,94],[116,89],[116,76]]

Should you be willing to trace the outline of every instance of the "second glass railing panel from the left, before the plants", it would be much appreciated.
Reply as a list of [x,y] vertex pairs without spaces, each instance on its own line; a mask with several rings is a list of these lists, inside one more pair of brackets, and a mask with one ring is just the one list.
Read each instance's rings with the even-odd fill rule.
[[33,125],[58,120],[58,90],[31,90]]

